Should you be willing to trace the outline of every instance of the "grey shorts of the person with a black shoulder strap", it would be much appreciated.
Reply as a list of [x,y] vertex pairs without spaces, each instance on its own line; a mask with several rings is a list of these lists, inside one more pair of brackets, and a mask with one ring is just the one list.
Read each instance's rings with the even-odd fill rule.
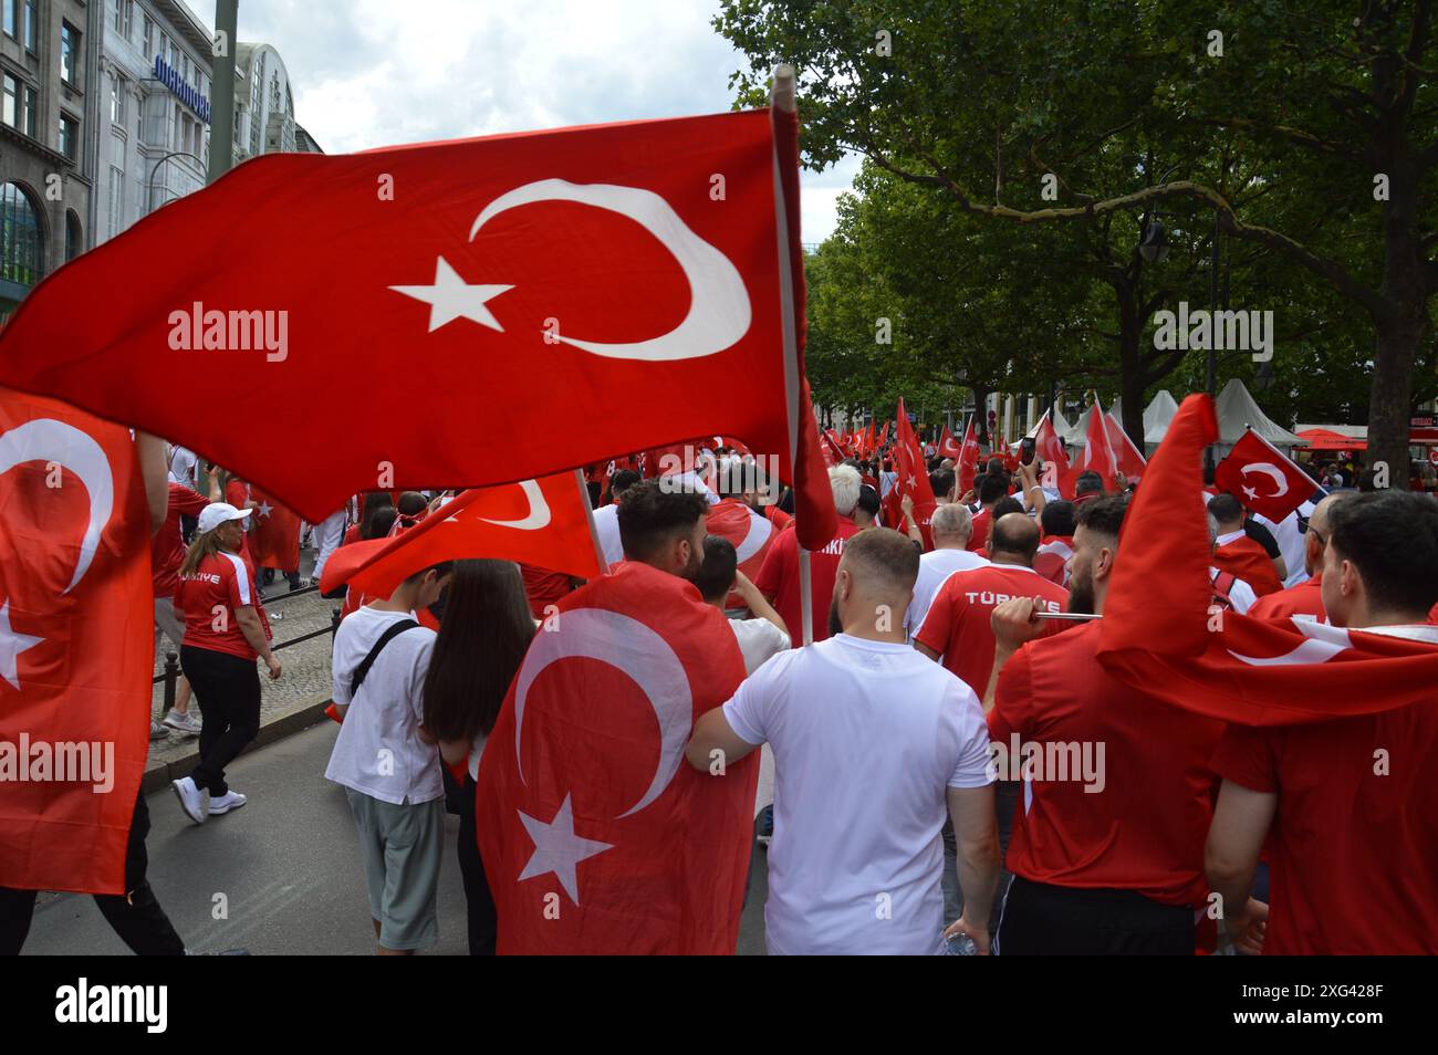
[[360,829],[370,916],[380,921],[385,949],[431,949],[440,936],[440,858],[444,849],[444,799],[417,806],[345,788]]

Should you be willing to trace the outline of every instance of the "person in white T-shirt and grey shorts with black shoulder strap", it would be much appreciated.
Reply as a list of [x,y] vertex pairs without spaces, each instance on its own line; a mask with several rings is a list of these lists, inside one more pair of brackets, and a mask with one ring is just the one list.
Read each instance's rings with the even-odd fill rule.
[[335,634],[341,726],[325,778],[344,785],[360,831],[381,956],[410,956],[439,940],[444,783],[439,749],[423,730],[436,634],[414,612],[439,599],[452,571],[446,562],[416,572],[390,599],[351,612]]

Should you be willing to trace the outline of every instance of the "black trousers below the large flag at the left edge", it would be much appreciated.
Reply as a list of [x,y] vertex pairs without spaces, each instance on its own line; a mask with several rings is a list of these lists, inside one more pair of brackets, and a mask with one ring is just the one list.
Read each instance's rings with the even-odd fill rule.
[[[170,917],[145,878],[150,868],[150,855],[145,852],[148,834],[150,809],[145,806],[145,796],[139,795],[129,822],[129,842],[125,845],[125,890],[129,894],[95,894],[95,904],[121,941],[137,956],[184,956],[184,941],[170,924]],[[30,934],[36,893],[0,887],[0,956],[20,954],[24,939]]]

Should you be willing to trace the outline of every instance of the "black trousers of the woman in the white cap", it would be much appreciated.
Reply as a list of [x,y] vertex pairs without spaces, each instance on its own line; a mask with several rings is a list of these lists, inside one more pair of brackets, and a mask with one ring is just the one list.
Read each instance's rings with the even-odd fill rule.
[[180,670],[190,678],[194,699],[204,711],[200,730],[200,765],[190,778],[196,788],[224,795],[224,768],[260,732],[260,674],[255,660],[181,645]]

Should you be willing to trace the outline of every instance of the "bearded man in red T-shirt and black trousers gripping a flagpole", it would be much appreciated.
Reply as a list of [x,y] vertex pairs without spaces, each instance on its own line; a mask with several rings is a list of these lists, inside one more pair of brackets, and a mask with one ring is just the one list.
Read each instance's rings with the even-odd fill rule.
[[[1078,507],[1070,612],[1103,614],[1126,507],[1119,494]],[[1001,773],[1024,778],[997,952],[1191,956],[1224,723],[1110,676],[1097,621],[1045,637],[1034,611],[1014,598],[992,617],[989,737]]]

